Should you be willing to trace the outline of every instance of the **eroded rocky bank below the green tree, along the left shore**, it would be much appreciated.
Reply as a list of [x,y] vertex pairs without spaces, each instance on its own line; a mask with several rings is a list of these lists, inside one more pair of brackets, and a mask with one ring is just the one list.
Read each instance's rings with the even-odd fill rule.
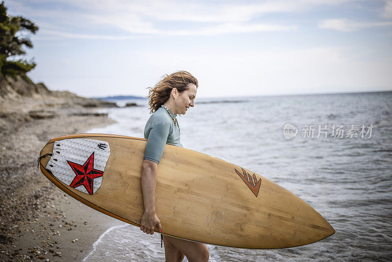
[[68,91],[51,91],[44,83],[27,76],[17,79],[0,75],[0,131],[14,124],[57,117],[106,117],[98,107],[118,107],[116,103],[77,96]]

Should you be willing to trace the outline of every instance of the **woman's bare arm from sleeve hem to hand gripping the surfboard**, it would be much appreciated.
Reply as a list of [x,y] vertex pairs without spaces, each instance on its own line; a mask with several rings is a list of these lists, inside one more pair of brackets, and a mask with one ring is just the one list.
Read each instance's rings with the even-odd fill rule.
[[140,230],[147,234],[154,234],[155,226],[162,232],[161,222],[155,213],[155,187],[158,164],[144,159],[142,164],[142,191],[144,200],[144,214],[140,223]]

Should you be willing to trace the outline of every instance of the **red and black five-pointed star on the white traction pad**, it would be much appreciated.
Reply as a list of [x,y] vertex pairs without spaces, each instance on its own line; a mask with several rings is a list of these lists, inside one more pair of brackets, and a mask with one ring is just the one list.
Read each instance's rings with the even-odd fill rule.
[[71,166],[73,172],[75,172],[76,174],[70,186],[76,188],[79,185],[84,185],[87,192],[89,192],[89,194],[92,195],[94,179],[103,176],[103,171],[94,169],[94,152],[86,160],[86,162],[84,162],[83,165],[79,165],[77,163],[68,160],[67,162]]

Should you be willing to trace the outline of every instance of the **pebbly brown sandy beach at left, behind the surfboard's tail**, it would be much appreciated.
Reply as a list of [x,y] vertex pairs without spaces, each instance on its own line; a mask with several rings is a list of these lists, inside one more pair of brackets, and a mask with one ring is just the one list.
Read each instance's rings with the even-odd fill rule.
[[114,123],[97,113],[112,105],[48,92],[0,97],[0,261],[81,261],[120,224],[64,194],[37,168],[50,138]]

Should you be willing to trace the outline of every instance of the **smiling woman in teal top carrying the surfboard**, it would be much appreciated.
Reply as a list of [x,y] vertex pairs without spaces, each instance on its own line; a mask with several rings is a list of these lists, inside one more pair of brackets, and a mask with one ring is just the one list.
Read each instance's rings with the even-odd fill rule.
[[[142,165],[145,210],[140,223],[140,230],[144,233],[154,234],[156,226],[162,232],[161,223],[155,213],[157,168],[166,143],[182,147],[176,115],[185,114],[189,107],[194,106],[197,86],[195,77],[186,71],[179,71],[167,75],[153,88],[149,88],[148,104],[153,114],[144,130],[144,136],[147,138]],[[163,242],[167,262],[182,261],[184,256],[190,262],[208,261],[209,252],[205,244],[165,235],[163,235]]]

